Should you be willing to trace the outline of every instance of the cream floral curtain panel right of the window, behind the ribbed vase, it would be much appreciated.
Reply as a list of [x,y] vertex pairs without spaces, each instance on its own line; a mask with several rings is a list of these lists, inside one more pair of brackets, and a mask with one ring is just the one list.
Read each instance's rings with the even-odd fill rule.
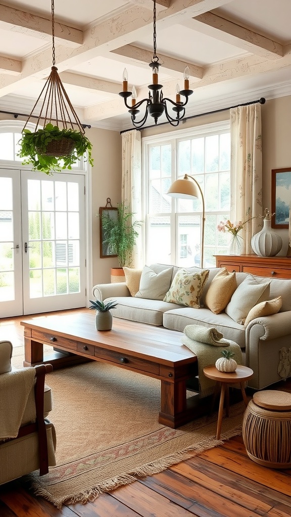
[[[259,216],[262,210],[261,106],[259,103],[230,110],[230,221]],[[251,219],[240,232],[241,253],[252,253],[251,238],[261,219]]]

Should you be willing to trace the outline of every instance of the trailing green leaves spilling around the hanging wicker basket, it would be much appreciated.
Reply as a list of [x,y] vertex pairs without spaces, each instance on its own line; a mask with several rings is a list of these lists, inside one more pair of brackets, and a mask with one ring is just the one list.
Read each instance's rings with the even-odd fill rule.
[[[50,142],[59,141],[63,138],[74,142],[71,152],[65,156],[49,156],[46,154],[47,146]],[[71,170],[71,166],[80,160],[84,154],[88,153],[88,161],[93,165],[92,144],[88,138],[75,129],[60,129],[52,124],[47,124],[43,129],[35,132],[30,129],[23,129],[22,138],[19,141],[20,151],[18,156],[25,158],[23,165],[32,164],[33,171],[61,172],[64,169]]]

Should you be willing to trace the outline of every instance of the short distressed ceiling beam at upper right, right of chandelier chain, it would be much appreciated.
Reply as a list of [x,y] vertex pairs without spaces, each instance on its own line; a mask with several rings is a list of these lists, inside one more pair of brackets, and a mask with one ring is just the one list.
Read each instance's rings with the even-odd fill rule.
[[[267,59],[279,59],[283,56],[283,45],[277,41],[254,33],[248,28],[225,20],[212,12],[200,14],[195,17],[194,21],[201,22],[205,25],[206,31],[202,30],[203,34],[208,34],[214,38],[216,37],[246,52],[251,52],[252,54],[257,54]],[[187,26],[191,26],[191,20],[189,24],[187,23]],[[193,28],[196,28],[196,25],[193,24]],[[201,32],[201,27],[199,31]]]

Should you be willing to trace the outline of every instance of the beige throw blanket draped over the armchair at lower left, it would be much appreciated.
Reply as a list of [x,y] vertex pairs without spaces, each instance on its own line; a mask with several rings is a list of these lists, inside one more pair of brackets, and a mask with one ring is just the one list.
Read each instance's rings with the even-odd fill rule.
[[[34,379],[35,368],[14,370],[0,375],[0,440],[16,438],[18,435]],[[35,406],[32,414],[35,415]]]

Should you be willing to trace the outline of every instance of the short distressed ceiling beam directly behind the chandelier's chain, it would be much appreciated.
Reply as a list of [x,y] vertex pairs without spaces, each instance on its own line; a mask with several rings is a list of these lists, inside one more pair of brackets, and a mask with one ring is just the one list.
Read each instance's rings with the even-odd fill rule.
[[[125,45],[119,49],[115,49],[111,52],[112,57],[121,55],[125,56],[129,62],[136,64],[136,62],[140,62],[142,65],[148,65],[151,63],[153,52],[145,49],[141,49],[139,47],[135,47],[134,45]],[[179,74],[179,77],[182,77],[184,74],[185,66],[188,65],[190,68],[190,75],[192,78],[201,79],[203,77],[203,69],[200,66],[196,66],[190,63],[185,63],[180,61],[179,59],[175,59],[173,57],[165,56],[163,54],[158,55],[159,63],[162,66],[163,72],[172,74],[173,71]]]

